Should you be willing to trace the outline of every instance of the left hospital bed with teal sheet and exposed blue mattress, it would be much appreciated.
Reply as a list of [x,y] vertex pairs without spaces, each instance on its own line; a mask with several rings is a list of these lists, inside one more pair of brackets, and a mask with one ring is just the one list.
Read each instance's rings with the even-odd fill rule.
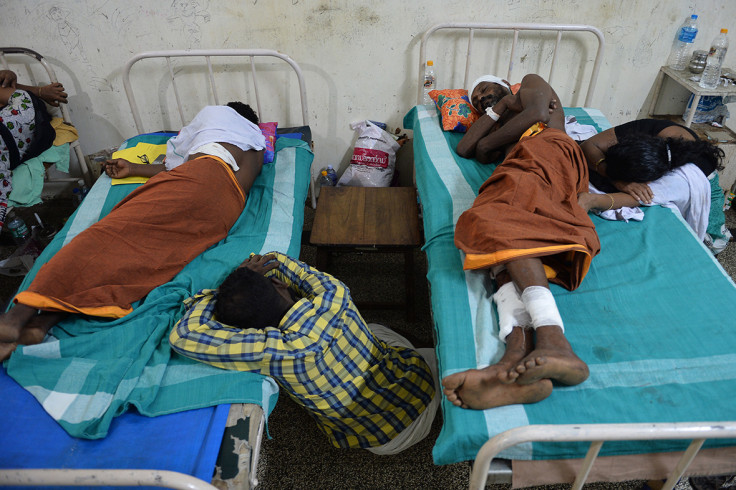
[[[216,65],[215,57],[229,64]],[[164,78],[149,64],[145,70],[136,69],[136,80],[131,67],[141,60],[163,60],[168,65]],[[313,159],[301,70],[288,56],[261,49],[136,55],[126,65],[124,83],[140,134],[126,140],[121,149],[138,148],[139,143],[160,145],[175,134],[146,133],[142,123],[146,116],[138,110],[131,79],[161,80],[166,92],[173,90],[184,125],[198,108],[186,113],[181,89],[173,88],[176,82],[169,75],[177,71],[185,78],[210,80],[214,95],[202,105],[217,104],[227,101],[218,99],[215,75],[242,76],[248,64],[251,71],[246,73],[254,85],[257,76],[262,84],[271,85],[276,78],[285,79],[279,86],[287,91],[293,84],[302,103],[298,119],[290,120],[298,123],[279,128],[284,136],[276,139],[274,162],[264,165],[241,217],[225,239],[137,302],[126,317],[65,320],[51,331],[53,338],[19,349],[5,363],[0,370],[0,417],[9,430],[4,431],[0,447],[0,485],[212,488],[210,481],[218,488],[257,485],[255,470],[266,420],[278,398],[277,385],[265,376],[217,369],[178,356],[168,346],[168,334],[184,313],[185,298],[199,289],[217,287],[251,252],[278,250],[299,256]],[[290,81],[293,78],[296,82]],[[257,101],[253,105],[261,121],[280,117],[278,105],[284,97],[271,94],[273,101],[261,107],[263,95],[251,97],[242,88],[236,91],[239,100]],[[142,98],[146,95],[151,94]],[[164,112],[166,94],[155,96],[162,101],[159,112]],[[170,121],[157,124],[166,129],[180,127]],[[112,185],[102,174],[38,258],[21,289],[63,244],[107,214],[137,185]]]

